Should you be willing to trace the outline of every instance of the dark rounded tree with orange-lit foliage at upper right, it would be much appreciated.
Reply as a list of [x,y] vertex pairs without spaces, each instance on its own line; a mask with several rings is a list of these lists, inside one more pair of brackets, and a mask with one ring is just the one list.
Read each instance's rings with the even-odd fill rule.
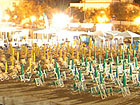
[[118,21],[133,21],[140,14],[140,7],[129,3],[115,3],[110,5],[110,14]]

